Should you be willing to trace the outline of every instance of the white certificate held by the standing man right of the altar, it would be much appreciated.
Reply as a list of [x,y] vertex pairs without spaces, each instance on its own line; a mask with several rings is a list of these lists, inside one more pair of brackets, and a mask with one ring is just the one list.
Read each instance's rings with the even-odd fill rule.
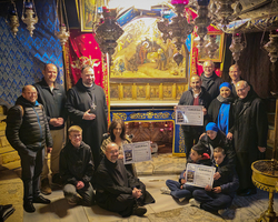
[[178,105],[176,109],[176,124],[203,125],[202,105]]

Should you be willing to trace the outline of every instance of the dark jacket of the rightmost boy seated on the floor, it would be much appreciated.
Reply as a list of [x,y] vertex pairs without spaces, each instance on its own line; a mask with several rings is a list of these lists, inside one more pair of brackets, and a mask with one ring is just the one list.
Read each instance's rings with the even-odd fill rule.
[[[222,168],[227,168],[227,164],[229,164],[229,161],[227,160],[227,155],[221,162],[221,164],[217,165],[214,163],[214,167],[216,168],[216,172],[221,172]],[[218,180],[214,181],[212,188],[220,186],[221,193],[230,195],[231,198],[235,198],[236,191],[239,188],[239,180],[237,172],[235,168],[229,170],[226,174],[221,175]]]

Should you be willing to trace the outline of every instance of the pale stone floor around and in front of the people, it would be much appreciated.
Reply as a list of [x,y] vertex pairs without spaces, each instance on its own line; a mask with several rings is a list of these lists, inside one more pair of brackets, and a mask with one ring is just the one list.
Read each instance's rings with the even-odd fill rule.
[[[143,218],[130,216],[122,219],[119,214],[108,212],[97,205],[70,206],[63,199],[61,190],[54,190],[48,195],[52,202],[49,205],[34,204],[34,213],[23,213],[24,222],[178,222],[178,221],[255,221],[267,210],[268,193],[258,190],[256,195],[248,198],[236,196],[231,205],[229,218],[221,218],[212,213],[190,206],[188,201],[180,203],[170,195],[161,194],[160,188],[165,186],[168,179],[178,180],[178,174],[185,169],[185,158],[173,158],[171,154],[155,155],[151,162],[137,163],[137,172],[147,190],[156,199],[156,203],[147,205]],[[275,211],[278,213],[278,194],[275,194]],[[18,222],[11,215],[7,222]]]

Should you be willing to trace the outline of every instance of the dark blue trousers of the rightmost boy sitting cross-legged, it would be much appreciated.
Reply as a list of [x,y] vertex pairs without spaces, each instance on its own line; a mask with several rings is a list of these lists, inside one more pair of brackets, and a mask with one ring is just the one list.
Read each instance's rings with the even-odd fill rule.
[[214,193],[211,191],[196,190],[193,191],[195,200],[201,202],[200,208],[205,211],[218,211],[229,208],[232,202],[230,195],[224,193]]

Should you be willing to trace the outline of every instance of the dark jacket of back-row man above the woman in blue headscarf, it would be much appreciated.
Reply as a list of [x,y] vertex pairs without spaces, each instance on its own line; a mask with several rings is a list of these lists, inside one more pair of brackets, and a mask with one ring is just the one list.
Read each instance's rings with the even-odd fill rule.
[[205,73],[202,72],[201,81],[202,81],[201,85],[208,91],[208,93],[211,97],[211,100],[217,98],[217,95],[220,92],[219,87],[224,82],[224,80],[220,77],[218,77],[215,72],[210,78],[206,78]]

